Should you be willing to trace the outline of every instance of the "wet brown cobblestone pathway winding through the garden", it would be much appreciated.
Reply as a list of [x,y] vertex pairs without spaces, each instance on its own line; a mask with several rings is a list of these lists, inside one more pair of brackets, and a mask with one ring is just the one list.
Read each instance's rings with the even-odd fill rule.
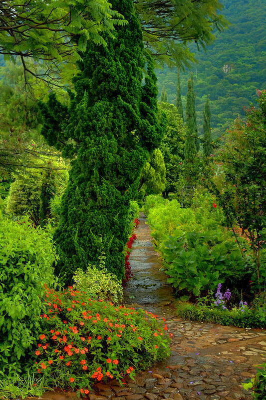
[[[250,400],[241,382],[265,362],[266,332],[176,317],[171,286],[159,271],[161,261],[154,251],[150,229],[143,215],[130,255],[134,277],[125,290],[125,304],[143,307],[167,319],[174,334],[167,360],[138,373],[123,387],[118,382],[98,383],[90,400]],[[135,296],[135,297],[134,297]],[[45,393],[47,400],[75,398],[75,393]],[[263,399],[262,399],[263,400]]]

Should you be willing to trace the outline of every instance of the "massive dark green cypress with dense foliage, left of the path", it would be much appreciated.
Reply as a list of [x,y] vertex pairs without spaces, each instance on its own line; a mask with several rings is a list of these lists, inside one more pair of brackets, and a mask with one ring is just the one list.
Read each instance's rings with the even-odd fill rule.
[[117,28],[115,39],[106,38],[107,47],[90,44],[81,54],[68,109],[54,95],[41,105],[48,142],[76,154],[54,235],[60,255],[55,271],[63,283],[77,267],[97,262],[102,250],[107,269],[123,277],[129,201],[162,136],[156,76],[133,2],[111,2],[127,25]]

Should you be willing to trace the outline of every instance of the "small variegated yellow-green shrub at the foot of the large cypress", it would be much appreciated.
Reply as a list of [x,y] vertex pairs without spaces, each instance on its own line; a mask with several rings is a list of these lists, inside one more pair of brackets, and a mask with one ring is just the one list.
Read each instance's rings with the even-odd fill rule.
[[121,281],[105,268],[105,256],[99,257],[99,266],[88,265],[86,271],[78,268],[75,271],[73,287],[76,290],[86,292],[92,299],[112,301],[115,304],[121,303],[123,298]]

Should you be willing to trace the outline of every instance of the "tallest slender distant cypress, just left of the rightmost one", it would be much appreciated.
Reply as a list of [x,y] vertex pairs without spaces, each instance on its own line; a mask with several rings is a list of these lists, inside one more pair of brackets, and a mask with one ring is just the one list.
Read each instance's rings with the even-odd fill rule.
[[188,80],[187,92],[187,137],[185,141],[185,160],[192,163],[197,154],[197,127],[195,125],[195,94],[193,90],[193,79]]

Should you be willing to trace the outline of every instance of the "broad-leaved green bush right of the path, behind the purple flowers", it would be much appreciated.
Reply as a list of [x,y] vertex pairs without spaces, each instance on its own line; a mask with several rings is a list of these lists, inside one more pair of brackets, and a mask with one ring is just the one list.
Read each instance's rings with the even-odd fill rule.
[[174,231],[161,248],[166,273],[178,291],[199,295],[202,290],[214,290],[225,279],[233,281],[243,276],[245,262],[237,243],[223,240],[220,232]]

